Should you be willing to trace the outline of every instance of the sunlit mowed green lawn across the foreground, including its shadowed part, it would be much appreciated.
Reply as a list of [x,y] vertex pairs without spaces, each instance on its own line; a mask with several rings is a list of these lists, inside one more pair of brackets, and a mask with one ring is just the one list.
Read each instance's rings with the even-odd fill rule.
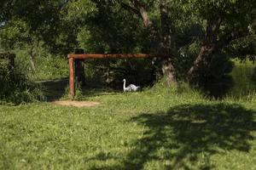
[[183,88],[0,105],[0,169],[256,169],[256,105]]

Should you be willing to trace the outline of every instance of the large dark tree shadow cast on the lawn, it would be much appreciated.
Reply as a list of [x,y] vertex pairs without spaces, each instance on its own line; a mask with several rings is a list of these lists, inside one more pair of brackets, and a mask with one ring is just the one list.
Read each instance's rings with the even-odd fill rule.
[[250,150],[253,114],[241,105],[178,105],[134,117],[146,130],[120,168],[147,169],[158,162],[158,169],[211,169],[214,154]]

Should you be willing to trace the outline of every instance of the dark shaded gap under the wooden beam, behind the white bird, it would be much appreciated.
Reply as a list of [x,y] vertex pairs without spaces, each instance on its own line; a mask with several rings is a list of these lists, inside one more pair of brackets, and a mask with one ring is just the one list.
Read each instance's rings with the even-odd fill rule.
[[[152,64],[154,63],[154,64]],[[85,84],[122,88],[122,80],[141,87],[153,86],[160,77],[159,61],[153,59],[86,59]]]

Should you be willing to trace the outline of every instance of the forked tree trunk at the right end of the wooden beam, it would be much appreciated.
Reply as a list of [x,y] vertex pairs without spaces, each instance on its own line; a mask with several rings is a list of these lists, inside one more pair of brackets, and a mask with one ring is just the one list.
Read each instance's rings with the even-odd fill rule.
[[[153,48],[154,53],[165,55],[162,59],[162,71],[166,75],[168,85],[172,85],[176,81],[176,71],[173,66],[172,60],[172,29],[171,22],[168,17],[167,3],[166,0],[160,0],[160,21],[161,21],[161,32],[157,30],[154,23],[150,20],[148,12],[143,8],[143,4],[139,0],[131,0],[134,7],[128,4],[122,3],[122,6],[131,12],[139,15],[143,19],[144,26],[148,29],[150,48]],[[161,33],[161,37],[159,37]]]

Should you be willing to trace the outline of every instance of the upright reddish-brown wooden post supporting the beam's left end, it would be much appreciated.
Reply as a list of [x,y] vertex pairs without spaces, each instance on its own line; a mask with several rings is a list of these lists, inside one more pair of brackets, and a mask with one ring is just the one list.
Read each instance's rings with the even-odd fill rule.
[[69,65],[69,97],[73,99],[75,94],[75,89],[74,89],[74,69],[73,69],[72,55],[68,55],[68,65]]

